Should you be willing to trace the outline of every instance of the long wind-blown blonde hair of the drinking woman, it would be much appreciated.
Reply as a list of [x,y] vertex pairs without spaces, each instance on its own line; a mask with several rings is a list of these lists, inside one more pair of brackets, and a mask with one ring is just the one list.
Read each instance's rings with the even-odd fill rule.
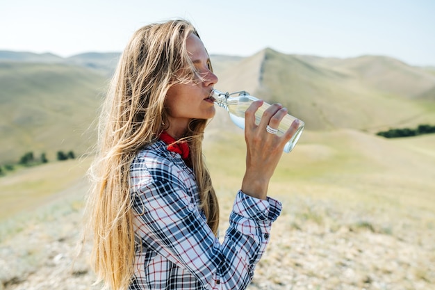
[[[165,96],[174,83],[194,81],[186,49],[186,20],[150,24],[138,29],[124,50],[99,117],[97,156],[89,170],[92,188],[86,225],[92,233],[92,266],[106,288],[126,289],[133,274],[135,243],[129,167],[138,151],[158,140],[167,128]],[[219,207],[202,154],[207,120],[192,120],[190,146],[201,208],[217,233]]]

